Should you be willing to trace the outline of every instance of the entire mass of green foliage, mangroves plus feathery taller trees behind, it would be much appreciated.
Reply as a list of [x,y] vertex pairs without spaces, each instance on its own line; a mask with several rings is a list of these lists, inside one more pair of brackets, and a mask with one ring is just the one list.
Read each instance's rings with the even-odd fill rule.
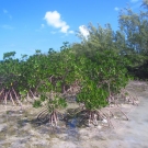
[[7,94],[20,100],[38,96],[33,106],[46,102],[56,121],[57,110],[67,106],[62,93],[77,82],[80,87],[77,102],[83,103],[89,112],[109,105],[107,98],[119,93],[132,79],[128,71],[139,78],[148,77],[147,0],[143,8],[140,13],[129,8],[121,11],[121,30],[116,32],[110,24],[95,27],[90,23],[87,38],[78,33],[81,43],[64,42],[60,52],[49,48],[45,55],[36,49],[34,55],[22,55],[21,59],[14,58],[15,52],[4,53],[0,61],[3,99]]

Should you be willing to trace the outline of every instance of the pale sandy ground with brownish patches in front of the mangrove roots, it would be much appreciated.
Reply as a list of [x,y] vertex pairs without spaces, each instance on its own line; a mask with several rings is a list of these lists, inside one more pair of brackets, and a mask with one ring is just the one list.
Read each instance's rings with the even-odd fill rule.
[[138,82],[130,86],[139,104],[123,104],[129,121],[112,118],[115,128],[59,126],[50,130],[48,125],[31,123],[38,112],[31,105],[23,113],[18,106],[0,105],[0,148],[148,148],[148,89]]

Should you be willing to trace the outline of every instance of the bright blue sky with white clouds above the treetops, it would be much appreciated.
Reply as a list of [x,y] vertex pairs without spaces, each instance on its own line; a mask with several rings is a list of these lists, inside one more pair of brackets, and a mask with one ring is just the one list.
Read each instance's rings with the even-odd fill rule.
[[88,35],[83,25],[89,22],[117,30],[118,10],[127,3],[137,10],[141,0],[0,0],[0,60],[7,52],[21,58],[80,42],[76,32]]

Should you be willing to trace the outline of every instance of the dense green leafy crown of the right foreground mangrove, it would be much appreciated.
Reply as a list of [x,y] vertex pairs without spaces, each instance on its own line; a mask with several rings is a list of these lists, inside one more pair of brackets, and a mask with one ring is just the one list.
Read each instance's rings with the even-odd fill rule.
[[111,93],[117,94],[129,78],[125,66],[126,60],[112,52],[96,52],[93,58],[82,58],[79,64],[82,89],[78,94],[78,102],[87,110],[96,110],[107,105],[106,99]]

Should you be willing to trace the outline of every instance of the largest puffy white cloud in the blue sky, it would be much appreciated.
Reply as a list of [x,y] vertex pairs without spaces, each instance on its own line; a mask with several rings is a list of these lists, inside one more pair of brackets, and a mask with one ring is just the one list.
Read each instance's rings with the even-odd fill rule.
[[44,19],[46,20],[48,25],[52,25],[56,29],[60,29],[60,32],[62,33],[71,33],[71,31],[68,32],[69,25],[65,21],[61,20],[60,13],[57,11],[48,11],[46,12]]

